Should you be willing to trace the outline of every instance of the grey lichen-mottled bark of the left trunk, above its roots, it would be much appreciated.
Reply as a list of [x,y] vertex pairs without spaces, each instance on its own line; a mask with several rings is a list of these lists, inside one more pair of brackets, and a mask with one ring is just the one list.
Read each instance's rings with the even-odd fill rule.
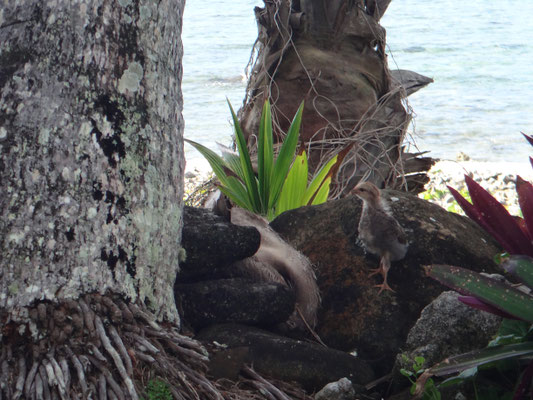
[[184,1],[0,8],[0,311],[111,292],[178,322]]

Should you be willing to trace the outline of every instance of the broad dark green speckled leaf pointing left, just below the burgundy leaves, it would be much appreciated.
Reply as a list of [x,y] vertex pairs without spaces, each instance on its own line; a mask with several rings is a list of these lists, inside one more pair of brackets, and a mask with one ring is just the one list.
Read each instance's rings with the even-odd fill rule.
[[509,284],[451,265],[431,265],[425,269],[428,276],[462,294],[474,296],[517,318],[533,322],[533,297]]

